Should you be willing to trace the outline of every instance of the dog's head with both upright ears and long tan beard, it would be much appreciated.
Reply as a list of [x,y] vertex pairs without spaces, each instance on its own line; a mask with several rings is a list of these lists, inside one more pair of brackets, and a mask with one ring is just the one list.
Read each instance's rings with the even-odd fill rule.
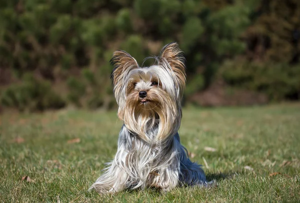
[[178,130],[185,87],[184,57],[177,43],[164,46],[155,59],[156,64],[150,67],[139,67],[124,51],[114,52],[111,59],[118,116],[145,141],[152,140],[155,126],[158,140],[173,131],[171,126]]

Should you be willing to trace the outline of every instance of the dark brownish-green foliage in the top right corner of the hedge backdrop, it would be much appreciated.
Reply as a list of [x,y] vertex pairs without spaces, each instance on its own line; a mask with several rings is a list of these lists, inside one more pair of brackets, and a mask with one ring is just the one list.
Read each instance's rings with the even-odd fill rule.
[[[252,42],[248,54],[265,62],[299,63],[300,2],[270,0],[260,8],[264,12],[255,16],[255,24],[245,33]],[[263,53],[259,47],[265,49]]]

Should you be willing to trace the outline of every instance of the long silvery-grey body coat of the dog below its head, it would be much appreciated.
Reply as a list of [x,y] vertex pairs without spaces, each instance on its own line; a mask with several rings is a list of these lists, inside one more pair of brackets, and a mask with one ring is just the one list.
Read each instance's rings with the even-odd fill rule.
[[200,165],[190,161],[180,144],[178,133],[162,145],[150,145],[124,125],[115,157],[105,170],[90,189],[99,193],[145,187],[168,191],[176,186],[207,184]]

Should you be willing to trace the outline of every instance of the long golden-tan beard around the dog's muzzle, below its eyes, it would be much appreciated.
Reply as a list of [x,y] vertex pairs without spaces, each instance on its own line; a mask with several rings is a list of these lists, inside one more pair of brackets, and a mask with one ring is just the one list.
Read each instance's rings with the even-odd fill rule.
[[174,98],[156,88],[140,99],[138,91],[131,91],[118,116],[131,133],[148,143],[162,142],[177,132],[180,126],[181,109]]

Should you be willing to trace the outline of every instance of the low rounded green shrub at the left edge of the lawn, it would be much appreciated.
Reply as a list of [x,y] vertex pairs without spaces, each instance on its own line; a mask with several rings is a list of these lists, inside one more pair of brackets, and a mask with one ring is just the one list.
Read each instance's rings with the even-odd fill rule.
[[38,81],[30,74],[24,75],[22,83],[11,84],[4,89],[0,103],[19,111],[58,109],[65,106],[62,98],[51,90],[49,82]]

